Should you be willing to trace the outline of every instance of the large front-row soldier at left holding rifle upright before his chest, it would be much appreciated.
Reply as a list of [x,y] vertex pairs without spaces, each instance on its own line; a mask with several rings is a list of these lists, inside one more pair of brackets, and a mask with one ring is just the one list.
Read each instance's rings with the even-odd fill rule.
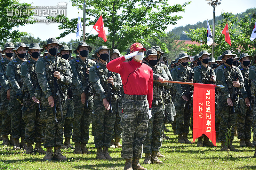
[[[62,47],[56,38],[49,38],[47,44],[43,45],[43,49],[48,51],[48,56],[39,58],[36,63],[36,74],[38,83],[42,89],[42,108],[41,108],[41,119],[46,123],[45,135],[44,135],[44,148],[46,148],[46,155],[44,161],[56,160],[67,160],[65,156],[61,154],[60,147],[63,145],[63,125],[67,113],[67,88],[72,81],[71,67],[67,60],[57,57],[57,50]],[[57,58],[56,58],[57,57]],[[55,60],[57,59],[57,63]],[[55,64],[57,64],[57,71],[54,70]],[[54,77],[57,78],[57,84],[60,88],[59,93],[63,94],[60,97],[60,103],[57,97],[56,102],[56,119],[54,116]],[[56,87],[57,88],[57,87]],[[58,90],[58,89],[57,89]],[[55,95],[54,95],[55,96]],[[62,95],[60,95],[62,96]],[[63,119],[60,120],[61,108],[63,112]],[[54,154],[52,152],[54,147]]]

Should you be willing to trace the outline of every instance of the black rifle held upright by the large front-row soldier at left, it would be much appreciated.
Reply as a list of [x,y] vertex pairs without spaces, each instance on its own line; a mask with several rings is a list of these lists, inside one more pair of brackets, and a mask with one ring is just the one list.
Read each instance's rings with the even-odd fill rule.
[[[55,57],[55,66],[53,68],[52,71],[52,77],[53,77],[53,84],[54,84],[54,91],[53,91],[53,98],[54,98],[54,106],[53,106],[53,114],[55,117],[55,121],[57,123],[61,122],[63,119],[63,112],[62,112],[62,105],[61,105],[61,100],[60,97],[62,97],[62,99],[64,99],[64,96],[60,90],[60,87],[58,85],[58,79],[57,77],[54,77],[54,72],[57,71],[57,57],[58,57],[58,49],[56,49],[56,57]],[[60,105],[60,121],[57,120],[57,98],[59,99],[59,105]]]

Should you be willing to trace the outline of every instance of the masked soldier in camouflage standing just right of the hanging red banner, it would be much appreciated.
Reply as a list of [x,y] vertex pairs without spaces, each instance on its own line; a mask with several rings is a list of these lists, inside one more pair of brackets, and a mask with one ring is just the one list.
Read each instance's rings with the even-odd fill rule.
[[[242,89],[244,88],[244,78],[239,68],[232,66],[233,57],[236,54],[232,54],[230,50],[226,50],[222,53],[223,65],[217,68],[216,77],[217,84],[222,84],[225,88],[220,89],[219,102],[217,106],[217,112],[220,115],[220,130],[219,139],[221,142],[221,151],[238,151],[232,145],[234,139],[234,126],[236,123],[237,112],[232,113],[233,104],[236,106],[238,101],[233,103],[231,99],[233,87]],[[234,74],[238,73],[238,80],[234,79]],[[232,127],[232,128],[231,128]],[[229,149],[226,147],[226,132],[231,128],[231,136],[229,142]]]

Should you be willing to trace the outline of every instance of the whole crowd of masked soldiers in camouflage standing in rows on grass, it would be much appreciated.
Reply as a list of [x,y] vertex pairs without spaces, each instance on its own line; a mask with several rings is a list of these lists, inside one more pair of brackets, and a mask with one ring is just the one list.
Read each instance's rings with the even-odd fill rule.
[[[3,145],[23,148],[27,154],[45,154],[45,161],[67,160],[61,148],[72,148],[76,154],[91,154],[86,144],[92,123],[97,159],[111,160],[108,149],[122,148],[121,157],[126,159],[124,170],[146,169],[139,163],[142,152],[145,153],[143,164],[163,164],[158,157],[164,158],[159,149],[163,138],[169,138],[164,135],[169,131],[164,125],[167,105],[176,108],[172,129],[178,135],[178,143],[191,143],[188,134],[189,128],[193,129],[193,86],[164,82],[173,80],[224,85],[225,88],[215,90],[216,142],[221,142],[222,151],[238,151],[232,145],[237,135],[240,146],[256,146],[256,135],[253,135],[253,144],[250,142],[256,115],[253,104],[256,68],[250,61],[254,62],[256,55],[242,53],[239,58],[226,50],[215,60],[211,53],[203,50],[188,66],[190,58],[183,52],[168,66],[159,46],[146,50],[140,43],[134,43],[125,56],[117,49],[100,46],[89,59],[91,51],[92,47],[85,42],[80,42],[72,51],[56,38],[48,39],[43,48],[38,43],[31,43],[29,47],[24,43],[16,47],[10,42],[4,44],[4,49],[0,49]],[[72,52],[76,53],[76,58],[71,57]],[[148,81],[148,87],[153,87],[152,101],[146,100],[147,95],[125,94],[124,86],[132,81],[128,78],[133,72],[128,73],[127,80],[122,80],[122,71],[113,66],[116,58],[120,62],[137,61],[139,65],[134,74],[147,65],[144,74],[150,75],[152,82],[154,80],[153,84]],[[146,117],[127,120],[128,113],[129,116],[135,114],[132,112],[135,100],[141,101],[136,107],[141,107]],[[130,105],[128,112],[127,105]],[[228,129],[231,129],[231,137],[227,140]],[[135,133],[130,134],[131,131]],[[122,136],[123,146],[120,144]],[[75,148],[70,144],[71,138]],[[197,146],[214,147],[206,135],[198,138]]]

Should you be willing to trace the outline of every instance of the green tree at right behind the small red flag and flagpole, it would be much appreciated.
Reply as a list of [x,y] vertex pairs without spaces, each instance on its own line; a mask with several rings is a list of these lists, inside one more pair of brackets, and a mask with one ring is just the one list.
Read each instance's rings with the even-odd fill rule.
[[[223,19],[218,21],[218,24],[215,26],[215,43],[219,36],[220,36],[220,39],[215,45],[213,57],[218,58],[218,56],[221,55],[222,52],[225,50],[232,50],[237,55],[244,52],[248,52],[249,54],[251,54],[253,51],[255,51],[255,41],[252,42],[250,40],[250,36],[251,36],[252,29],[256,19],[255,14],[246,15],[243,19],[239,19],[241,20],[240,22],[237,22],[238,18],[235,17],[232,13],[222,13],[221,15]],[[232,43],[231,46],[228,45],[227,42],[225,42],[225,35],[221,34],[227,21],[228,21],[228,30],[230,34],[230,39]],[[202,50],[207,50],[209,52],[212,51],[212,46],[207,46],[206,34],[207,34],[206,27],[190,29],[187,34],[188,37],[191,38],[191,41],[202,43],[202,45],[198,46],[194,44],[193,45],[189,44],[188,45],[189,48],[184,50],[187,50],[188,54],[191,54],[191,55],[196,55]]]

